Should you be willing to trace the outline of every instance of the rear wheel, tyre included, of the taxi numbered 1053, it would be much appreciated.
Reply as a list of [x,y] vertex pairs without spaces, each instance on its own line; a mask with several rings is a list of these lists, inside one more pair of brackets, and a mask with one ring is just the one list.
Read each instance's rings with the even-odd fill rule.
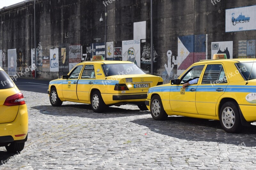
[[226,102],[221,107],[220,124],[221,127],[228,133],[237,133],[241,130],[239,110],[235,102]]

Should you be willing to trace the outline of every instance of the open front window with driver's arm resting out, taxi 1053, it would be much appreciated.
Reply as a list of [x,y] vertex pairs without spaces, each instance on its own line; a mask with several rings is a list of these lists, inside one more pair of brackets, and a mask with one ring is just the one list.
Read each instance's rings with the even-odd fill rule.
[[196,65],[193,66],[190,70],[185,73],[185,75],[180,79],[180,83],[184,84],[189,82],[190,80],[193,80],[195,78],[199,78],[202,71],[204,69],[204,65]]

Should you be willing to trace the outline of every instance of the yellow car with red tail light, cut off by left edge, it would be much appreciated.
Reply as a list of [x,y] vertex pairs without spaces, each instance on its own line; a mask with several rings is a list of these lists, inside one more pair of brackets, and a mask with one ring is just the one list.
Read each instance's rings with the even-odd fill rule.
[[28,109],[23,94],[0,67],[0,147],[23,150],[28,139]]

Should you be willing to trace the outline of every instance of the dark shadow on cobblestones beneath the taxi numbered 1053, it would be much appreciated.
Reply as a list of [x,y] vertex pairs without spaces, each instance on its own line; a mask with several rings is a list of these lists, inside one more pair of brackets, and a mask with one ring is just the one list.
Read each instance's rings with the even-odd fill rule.
[[[183,116],[169,116],[166,121],[153,118],[131,121],[148,127],[151,131],[187,141],[217,142],[244,147],[255,147],[256,126],[244,127],[239,134],[226,133],[220,122]],[[242,144],[243,143],[243,144]]]

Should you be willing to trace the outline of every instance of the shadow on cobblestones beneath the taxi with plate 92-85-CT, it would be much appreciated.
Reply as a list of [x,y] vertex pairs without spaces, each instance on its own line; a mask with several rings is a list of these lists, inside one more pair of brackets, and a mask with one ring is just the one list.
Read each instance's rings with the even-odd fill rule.
[[92,119],[106,119],[114,117],[126,117],[126,116],[135,116],[135,115],[144,115],[149,114],[149,111],[140,111],[132,109],[124,109],[118,107],[107,107],[104,113],[95,113],[92,111],[91,105],[88,104],[67,104],[61,105],[60,107],[53,107],[51,105],[42,105],[31,107],[36,110],[39,110],[40,113],[46,115],[55,115],[55,116],[77,116],[83,118],[92,118]]

